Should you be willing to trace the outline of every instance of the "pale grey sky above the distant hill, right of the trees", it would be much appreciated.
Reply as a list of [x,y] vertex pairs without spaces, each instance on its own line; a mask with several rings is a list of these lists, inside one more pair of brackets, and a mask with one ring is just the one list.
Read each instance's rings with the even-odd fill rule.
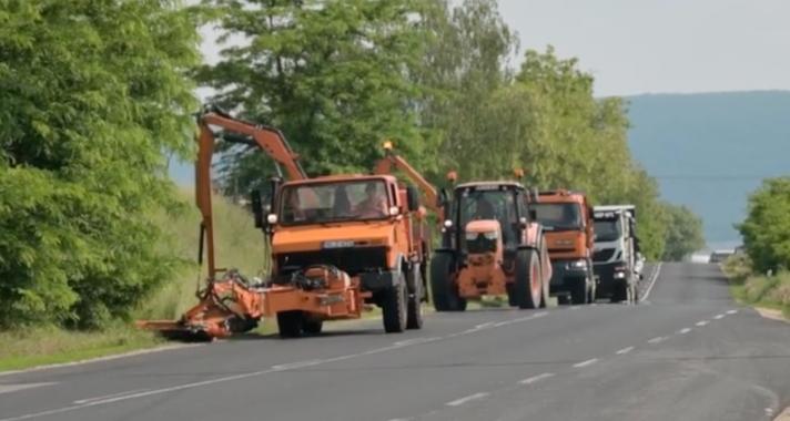
[[553,44],[596,94],[790,90],[789,0],[499,0],[521,51]]

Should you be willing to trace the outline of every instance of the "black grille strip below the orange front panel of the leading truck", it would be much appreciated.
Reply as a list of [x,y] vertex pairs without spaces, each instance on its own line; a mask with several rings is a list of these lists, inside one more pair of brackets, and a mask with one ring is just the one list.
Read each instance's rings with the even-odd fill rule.
[[385,247],[346,247],[277,255],[277,267],[281,275],[313,265],[331,265],[345,271],[348,276],[356,276],[363,271],[386,269],[387,249]]

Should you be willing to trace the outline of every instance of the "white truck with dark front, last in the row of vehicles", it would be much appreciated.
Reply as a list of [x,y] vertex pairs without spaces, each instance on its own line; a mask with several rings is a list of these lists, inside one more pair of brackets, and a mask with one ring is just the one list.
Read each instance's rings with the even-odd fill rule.
[[592,264],[598,296],[612,302],[638,302],[642,259],[636,236],[636,207],[596,206],[592,214],[596,234]]

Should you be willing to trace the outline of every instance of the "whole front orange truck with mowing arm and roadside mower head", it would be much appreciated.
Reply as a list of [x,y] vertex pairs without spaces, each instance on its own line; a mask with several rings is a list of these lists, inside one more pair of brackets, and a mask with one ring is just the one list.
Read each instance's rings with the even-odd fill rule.
[[[428,250],[416,188],[391,174],[308,178],[282,133],[219,110],[204,112],[199,125],[195,186],[207,285],[180,320],[140,321],[140,327],[212,339],[276,318],[281,337],[298,337],[321,332],[326,320],[359,318],[366,306],[377,305],[386,332],[422,328]],[[210,171],[216,137],[257,147],[285,167],[288,179],[273,179],[271,195],[252,195],[255,225],[271,248],[265,281],[253,284],[214,261]]]

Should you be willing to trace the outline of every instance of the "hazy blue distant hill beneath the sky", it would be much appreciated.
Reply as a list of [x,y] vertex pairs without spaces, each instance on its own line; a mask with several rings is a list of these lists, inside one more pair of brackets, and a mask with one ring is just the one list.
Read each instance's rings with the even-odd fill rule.
[[737,244],[732,227],[760,181],[790,174],[790,92],[650,94],[630,103],[631,151],[669,202],[705,219],[711,247]]

